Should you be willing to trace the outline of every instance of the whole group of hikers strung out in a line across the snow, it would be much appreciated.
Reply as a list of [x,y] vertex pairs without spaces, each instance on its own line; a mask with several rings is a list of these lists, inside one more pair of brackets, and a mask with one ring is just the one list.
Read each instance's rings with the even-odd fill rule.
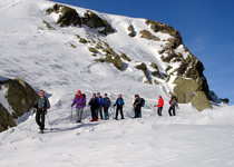
[[[76,115],[77,115],[77,122],[81,122],[82,118],[82,111],[86,107],[86,95],[81,94],[80,90],[77,91],[77,95],[75,96],[71,109],[76,105]],[[100,92],[92,94],[91,99],[89,100],[88,105],[90,106],[91,110],[91,120],[90,121],[98,121],[100,116],[101,120],[109,119],[109,107],[111,106],[111,101],[108,98],[107,94],[104,94],[104,98],[100,96]],[[120,112],[121,119],[124,118],[123,107],[125,105],[125,101],[123,99],[121,95],[118,95],[118,98],[116,99],[114,107],[116,107],[116,115],[114,119],[118,120],[118,114]],[[134,117],[133,118],[142,118],[142,107],[145,105],[145,99],[140,98],[139,95],[135,95],[135,100],[133,104],[134,109]],[[45,91],[40,90],[40,95],[37,98],[37,100],[33,102],[33,107],[37,109],[36,112],[36,122],[38,124],[41,131],[45,129],[45,116],[47,115],[47,109],[50,108],[50,102],[48,98],[45,96]],[[159,96],[157,105],[154,107],[157,107],[157,115],[163,116],[162,111],[164,108],[164,99],[162,96]],[[176,108],[178,108],[177,99],[176,97],[172,97],[169,100],[169,109],[168,114],[169,116],[176,116]],[[104,110],[104,115],[103,115]],[[72,110],[71,110],[72,111]]]

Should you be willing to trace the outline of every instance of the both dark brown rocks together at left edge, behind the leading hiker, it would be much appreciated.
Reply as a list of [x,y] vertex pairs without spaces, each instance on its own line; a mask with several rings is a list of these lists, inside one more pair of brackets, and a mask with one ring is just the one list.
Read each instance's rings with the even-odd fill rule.
[[[37,92],[22,79],[9,79],[0,81],[0,87],[6,87],[4,98],[8,107],[0,104],[0,131],[7,130],[9,127],[17,126],[17,118],[28,112],[32,108],[32,102],[37,99]],[[10,110],[9,110],[10,109]]]

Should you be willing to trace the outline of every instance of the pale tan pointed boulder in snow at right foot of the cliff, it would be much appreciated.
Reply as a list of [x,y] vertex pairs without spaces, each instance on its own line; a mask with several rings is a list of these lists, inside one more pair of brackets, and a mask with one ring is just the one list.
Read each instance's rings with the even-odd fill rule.
[[196,91],[192,99],[192,105],[198,110],[203,111],[206,108],[213,108],[206,95],[203,91]]

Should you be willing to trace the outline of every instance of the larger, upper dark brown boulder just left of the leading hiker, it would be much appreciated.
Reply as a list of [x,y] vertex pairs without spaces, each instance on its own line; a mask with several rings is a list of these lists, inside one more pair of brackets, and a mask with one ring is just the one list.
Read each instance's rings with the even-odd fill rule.
[[32,102],[38,97],[37,92],[26,81],[19,78],[8,80],[6,87],[8,88],[6,98],[13,109],[13,118],[18,118],[25,112],[28,112],[32,107]]

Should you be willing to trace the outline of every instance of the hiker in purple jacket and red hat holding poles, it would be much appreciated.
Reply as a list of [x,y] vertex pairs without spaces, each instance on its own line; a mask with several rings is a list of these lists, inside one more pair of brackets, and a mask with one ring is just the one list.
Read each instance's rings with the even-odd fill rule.
[[85,104],[86,104],[86,98],[82,96],[81,91],[78,90],[71,104],[71,107],[76,105],[77,122],[81,122]]

